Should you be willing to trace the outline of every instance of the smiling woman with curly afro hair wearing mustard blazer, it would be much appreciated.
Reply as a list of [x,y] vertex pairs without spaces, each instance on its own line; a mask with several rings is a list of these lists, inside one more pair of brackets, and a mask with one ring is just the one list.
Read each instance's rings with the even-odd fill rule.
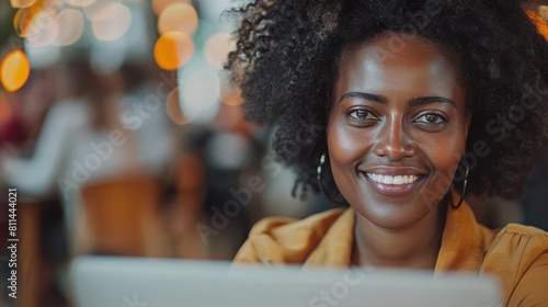
[[[548,235],[490,230],[464,201],[518,196],[548,140],[548,44],[525,8],[255,0],[235,11],[227,68],[248,118],[276,125],[274,154],[301,196],[310,186],[350,205],[266,218],[235,261],[473,271],[500,278],[506,306],[547,305]],[[323,133],[299,138],[302,121]]]

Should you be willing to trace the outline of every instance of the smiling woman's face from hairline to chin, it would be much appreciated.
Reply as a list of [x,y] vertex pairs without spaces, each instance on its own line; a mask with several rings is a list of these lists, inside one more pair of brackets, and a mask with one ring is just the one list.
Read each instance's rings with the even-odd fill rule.
[[377,226],[411,226],[433,211],[464,155],[469,117],[455,61],[427,41],[398,53],[390,35],[343,55],[327,137],[344,198]]

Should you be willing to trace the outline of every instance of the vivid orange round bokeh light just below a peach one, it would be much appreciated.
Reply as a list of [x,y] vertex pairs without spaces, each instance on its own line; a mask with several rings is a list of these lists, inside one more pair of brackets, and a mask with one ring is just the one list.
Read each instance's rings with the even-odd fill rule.
[[182,32],[168,32],[160,36],[155,46],[155,59],[165,70],[183,66],[194,53],[192,37]]

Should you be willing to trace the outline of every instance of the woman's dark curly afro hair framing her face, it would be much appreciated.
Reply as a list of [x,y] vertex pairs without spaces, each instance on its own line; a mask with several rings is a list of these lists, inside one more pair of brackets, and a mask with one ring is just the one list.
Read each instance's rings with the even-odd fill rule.
[[241,25],[226,68],[242,90],[248,120],[276,126],[274,155],[297,171],[296,185],[306,195],[308,186],[319,189],[331,91],[345,50],[388,32],[403,41],[426,38],[458,58],[472,114],[467,152],[478,144],[490,150],[472,157],[468,191],[513,198],[548,139],[548,44],[526,5],[516,0],[254,0],[231,11]]

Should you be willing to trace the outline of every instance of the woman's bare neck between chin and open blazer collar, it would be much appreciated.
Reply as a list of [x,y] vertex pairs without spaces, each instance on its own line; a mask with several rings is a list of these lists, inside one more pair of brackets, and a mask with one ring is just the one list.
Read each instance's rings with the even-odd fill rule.
[[442,202],[422,220],[404,229],[381,228],[356,214],[352,264],[434,270],[446,211]]

